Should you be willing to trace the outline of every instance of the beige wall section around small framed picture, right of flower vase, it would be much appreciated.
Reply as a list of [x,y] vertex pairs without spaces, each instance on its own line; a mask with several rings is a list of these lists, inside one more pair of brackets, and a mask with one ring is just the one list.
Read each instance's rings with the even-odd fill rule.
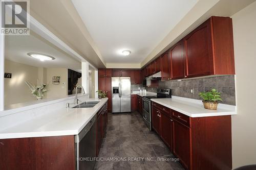
[[[60,76],[60,84],[52,84],[52,77]],[[48,90],[46,94],[47,99],[52,98],[64,98],[68,95],[68,69],[67,68],[47,68],[46,69],[47,82],[50,81],[48,85]]]

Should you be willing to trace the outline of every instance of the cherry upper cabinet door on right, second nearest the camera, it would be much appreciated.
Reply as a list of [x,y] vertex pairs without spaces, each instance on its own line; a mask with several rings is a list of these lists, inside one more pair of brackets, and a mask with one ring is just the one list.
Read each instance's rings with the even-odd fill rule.
[[175,44],[170,50],[170,78],[184,78],[184,56],[183,56],[183,41]]

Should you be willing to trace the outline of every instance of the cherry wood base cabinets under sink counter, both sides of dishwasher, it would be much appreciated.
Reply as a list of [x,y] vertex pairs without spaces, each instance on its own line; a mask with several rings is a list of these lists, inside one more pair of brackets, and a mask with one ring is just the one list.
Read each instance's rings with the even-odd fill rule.
[[[96,147],[98,155],[105,134],[106,103],[97,113]],[[0,139],[0,169],[72,170],[76,169],[74,135]]]

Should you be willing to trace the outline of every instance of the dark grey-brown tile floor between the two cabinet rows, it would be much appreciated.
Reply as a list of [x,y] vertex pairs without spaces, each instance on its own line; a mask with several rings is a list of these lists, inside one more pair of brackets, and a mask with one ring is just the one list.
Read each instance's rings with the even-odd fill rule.
[[109,113],[99,158],[94,169],[184,169],[138,112]]

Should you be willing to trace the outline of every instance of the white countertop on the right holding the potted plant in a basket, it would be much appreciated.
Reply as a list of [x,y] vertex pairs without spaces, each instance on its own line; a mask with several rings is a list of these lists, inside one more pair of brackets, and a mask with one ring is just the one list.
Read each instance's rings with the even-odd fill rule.
[[189,117],[223,116],[237,114],[236,106],[219,104],[217,110],[205,109],[202,101],[172,96],[165,99],[151,99],[160,105],[183,113]]

